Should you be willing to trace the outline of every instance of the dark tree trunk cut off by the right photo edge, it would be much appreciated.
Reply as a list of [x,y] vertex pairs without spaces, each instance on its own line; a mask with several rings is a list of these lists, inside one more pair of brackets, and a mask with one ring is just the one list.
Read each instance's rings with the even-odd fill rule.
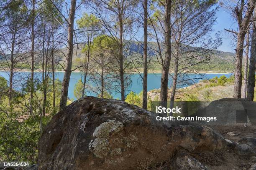
[[[256,14],[256,7],[254,8]],[[247,82],[247,100],[253,101],[255,88],[255,65],[256,65],[256,15],[253,18],[253,33],[251,37],[251,57]]]

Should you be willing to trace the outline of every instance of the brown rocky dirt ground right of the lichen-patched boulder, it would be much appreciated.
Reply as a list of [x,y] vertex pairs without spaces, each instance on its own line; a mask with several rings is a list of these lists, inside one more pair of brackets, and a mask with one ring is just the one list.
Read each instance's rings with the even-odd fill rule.
[[[220,166],[208,168],[213,170],[256,170],[256,126],[248,125],[222,125],[211,126],[216,133],[220,133],[225,139],[239,143],[235,148],[229,148],[220,152],[218,163]],[[239,147],[238,147],[239,146]],[[225,167],[223,165],[229,165]]]

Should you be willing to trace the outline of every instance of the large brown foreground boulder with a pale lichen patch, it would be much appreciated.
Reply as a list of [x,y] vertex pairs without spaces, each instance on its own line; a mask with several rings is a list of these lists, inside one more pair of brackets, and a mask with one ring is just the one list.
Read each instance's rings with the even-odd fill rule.
[[162,165],[180,149],[198,153],[226,147],[226,140],[210,128],[154,124],[151,114],[120,100],[79,99],[44,129],[38,143],[39,169],[146,169]]

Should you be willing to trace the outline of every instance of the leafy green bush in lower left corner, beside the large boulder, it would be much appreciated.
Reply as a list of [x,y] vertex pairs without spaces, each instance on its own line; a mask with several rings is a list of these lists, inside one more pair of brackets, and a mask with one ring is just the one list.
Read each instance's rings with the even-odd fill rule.
[[14,115],[0,112],[0,161],[36,163],[40,137],[39,116],[20,122]]

